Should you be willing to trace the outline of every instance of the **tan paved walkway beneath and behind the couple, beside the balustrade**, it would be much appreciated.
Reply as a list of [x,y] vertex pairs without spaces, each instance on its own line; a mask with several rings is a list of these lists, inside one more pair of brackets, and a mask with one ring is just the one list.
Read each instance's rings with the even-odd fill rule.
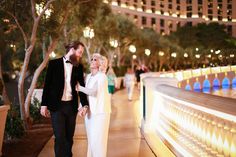
[[[155,157],[148,147],[139,128],[137,118],[139,108],[138,90],[134,90],[134,100],[128,101],[125,90],[112,96],[112,115],[109,129],[107,157]],[[52,137],[41,151],[39,157],[53,157]],[[73,154],[86,157],[87,139],[83,119],[77,118]]]

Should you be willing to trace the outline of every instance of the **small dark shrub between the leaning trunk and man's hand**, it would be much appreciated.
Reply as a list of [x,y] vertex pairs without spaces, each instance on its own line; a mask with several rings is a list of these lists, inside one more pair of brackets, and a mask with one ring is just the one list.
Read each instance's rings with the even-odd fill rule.
[[39,122],[42,118],[40,114],[40,102],[37,98],[33,98],[33,104],[30,105],[30,116],[33,122]]

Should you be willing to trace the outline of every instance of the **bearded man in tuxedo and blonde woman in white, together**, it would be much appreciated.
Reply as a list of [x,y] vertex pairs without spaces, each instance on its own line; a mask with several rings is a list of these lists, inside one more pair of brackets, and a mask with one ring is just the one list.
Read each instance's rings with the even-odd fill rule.
[[52,121],[55,156],[72,157],[76,116],[79,114],[85,118],[87,157],[106,157],[111,113],[105,74],[107,59],[98,53],[93,54],[90,74],[84,82],[83,66],[78,64],[84,52],[83,43],[75,41],[65,49],[63,57],[49,61],[40,110]]

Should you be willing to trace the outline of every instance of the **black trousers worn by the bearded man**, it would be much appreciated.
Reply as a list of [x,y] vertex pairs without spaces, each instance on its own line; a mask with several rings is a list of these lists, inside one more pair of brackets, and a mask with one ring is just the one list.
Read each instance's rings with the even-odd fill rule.
[[54,151],[56,157],[72,157],[77,116],[72,105],[72,101],[62,101],[57,111],[50,112],[55,136]]

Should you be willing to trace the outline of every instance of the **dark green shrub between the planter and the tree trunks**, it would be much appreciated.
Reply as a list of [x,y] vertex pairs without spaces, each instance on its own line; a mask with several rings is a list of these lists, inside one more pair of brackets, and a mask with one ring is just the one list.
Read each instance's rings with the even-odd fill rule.
[[8,111],[5,133],[8,139],[20,138],[24,135],[19,105],[11,105]]

